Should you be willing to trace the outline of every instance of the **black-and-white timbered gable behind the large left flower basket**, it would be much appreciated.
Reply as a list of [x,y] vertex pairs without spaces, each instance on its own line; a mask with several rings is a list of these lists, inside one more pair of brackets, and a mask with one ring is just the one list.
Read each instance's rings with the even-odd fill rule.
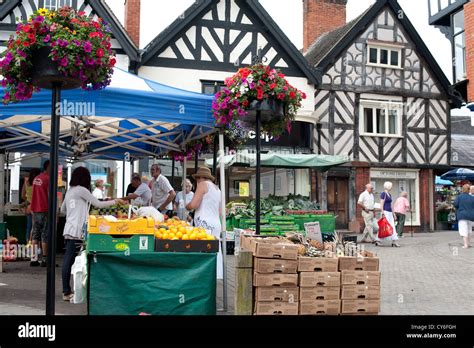
[[[8,39],[15,34],[19,21],[27,20],[33,12],[42,7],[44,0],[6,0],[0,5],[0,52],[6,49]],[[89,16],[98,16],[107,22],[112,29],[111,43],[116,53],[117,66],[124,70],[136,69],[138,48],[104,0],[72,0],[71,7],[84,11]]]

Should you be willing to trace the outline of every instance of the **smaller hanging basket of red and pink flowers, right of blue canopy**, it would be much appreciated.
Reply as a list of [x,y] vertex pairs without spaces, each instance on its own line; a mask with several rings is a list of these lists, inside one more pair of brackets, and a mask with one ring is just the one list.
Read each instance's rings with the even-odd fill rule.
[[285,75],[261,63],[239,69],[225,84],[212,105],[216,124],[229,127],[240,121],[253,125],[256,112],[260,111],[262,131],[272,136],[289,129],[306,98],[305,93],[288,83]]

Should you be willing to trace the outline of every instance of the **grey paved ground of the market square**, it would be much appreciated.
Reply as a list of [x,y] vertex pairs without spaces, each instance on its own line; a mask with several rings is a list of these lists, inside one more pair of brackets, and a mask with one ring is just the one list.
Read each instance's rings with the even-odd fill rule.
[[[367,250],[380,257],[382,271],[381,313],[385,315],[466,315],[474,313],[474,248],[462,249],[457,232],[420,233],[400,240],[401,248]],[[228,256],[228,312],[233,314],[234,256]],[[61,258],[58,264],[61,264]],[[0,273],[0,314],[43,315],[46,268],[27,262],[5,262]],[[56,269],[57,314],[82,315],[85,304],[61,298],[60,267]],[[6,284],[6,285],[2,285]],[[223,308],[222,282],[217,285],[217,308]]]

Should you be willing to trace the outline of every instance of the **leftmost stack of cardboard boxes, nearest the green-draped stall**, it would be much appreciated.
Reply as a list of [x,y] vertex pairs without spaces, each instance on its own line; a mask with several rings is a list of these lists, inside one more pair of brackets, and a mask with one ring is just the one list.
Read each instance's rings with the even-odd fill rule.
[[272,239],[254,239],[256,315],[298,315],[298,246]]

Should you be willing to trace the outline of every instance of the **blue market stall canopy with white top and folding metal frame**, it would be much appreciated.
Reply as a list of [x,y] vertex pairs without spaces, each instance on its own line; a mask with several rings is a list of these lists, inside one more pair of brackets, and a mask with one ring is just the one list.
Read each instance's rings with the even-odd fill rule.
[[[3,95],[3,89],[0,88]],[[61,93],[60,153],[76,158],[156,156],[214,132],[212,96],[116,68],[109,87]],[[48,152],[51,91],[0,106],[0,150]]]

